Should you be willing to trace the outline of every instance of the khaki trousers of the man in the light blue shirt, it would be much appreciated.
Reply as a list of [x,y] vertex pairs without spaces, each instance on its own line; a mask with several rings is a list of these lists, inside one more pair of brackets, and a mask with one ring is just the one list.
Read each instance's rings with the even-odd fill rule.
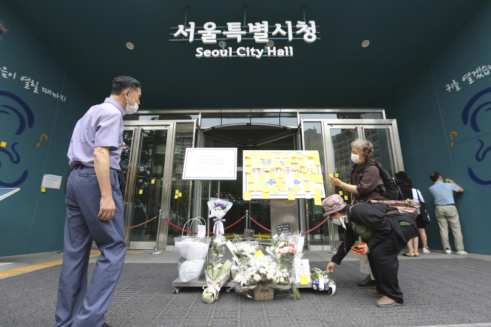
[[452,228],[455,240],[455,248],[464,250],[464,241],[460,231],[459,213],[455,205],[437,205],[435,207],[435,216],[440,226],[440,238],[443,249],[452,249],[449,243],[449,225]]

